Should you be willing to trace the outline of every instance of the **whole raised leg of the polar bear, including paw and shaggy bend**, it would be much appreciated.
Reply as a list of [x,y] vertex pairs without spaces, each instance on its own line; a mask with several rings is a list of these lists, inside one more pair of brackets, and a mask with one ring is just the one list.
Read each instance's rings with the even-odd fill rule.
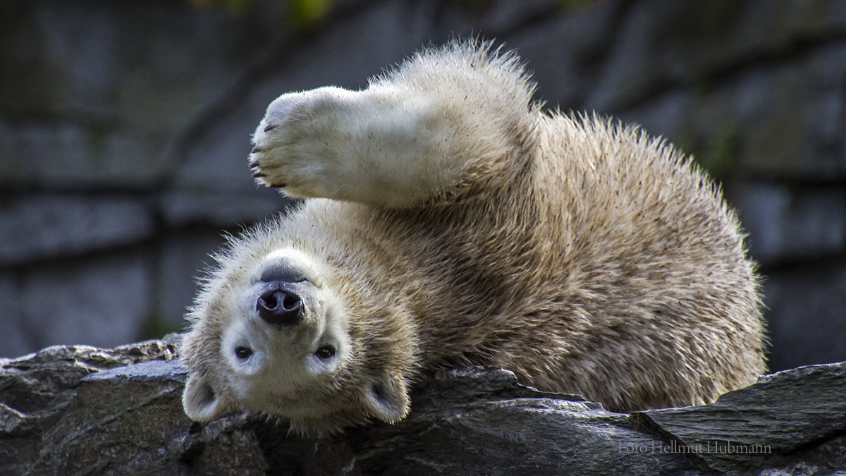
[[507,181],[520,169],[508,160],[530,155],[513,152],[531,147],[526,132],[537,115],[522,70],[486,54],[410,62],[363,91],[330,86],[278,97],[253,136],[254,177],[290,196],[382,207]]

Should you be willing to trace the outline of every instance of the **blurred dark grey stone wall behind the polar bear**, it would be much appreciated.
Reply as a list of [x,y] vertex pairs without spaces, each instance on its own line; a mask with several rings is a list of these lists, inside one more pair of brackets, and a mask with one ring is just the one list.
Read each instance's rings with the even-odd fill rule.
[[722,180],[766,275],[773,369],[846,360],[846,3],[0,0],[0,356],[183,327],[221,231],[286,206],[246,169],[284,91],[429,42],[519,49],[550,108],[643,125]]

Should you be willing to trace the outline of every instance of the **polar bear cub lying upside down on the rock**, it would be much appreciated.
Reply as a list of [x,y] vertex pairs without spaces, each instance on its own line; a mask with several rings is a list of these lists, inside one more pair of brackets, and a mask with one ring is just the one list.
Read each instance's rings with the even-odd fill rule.
[[396,422],[412,385],[474,364],[622,412],[753,383],[757,278],[717,188],[533,92],[513,53],[455,42],[363,91],[273,101],[250,169],[305,201],[217,256],[182,349],[188,415]]

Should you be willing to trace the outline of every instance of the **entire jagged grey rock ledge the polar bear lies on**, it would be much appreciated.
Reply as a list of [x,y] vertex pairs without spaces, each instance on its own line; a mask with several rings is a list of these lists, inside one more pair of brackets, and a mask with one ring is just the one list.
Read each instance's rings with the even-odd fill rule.
[[0,473],[823,476],[846,468],[846,363],[767,375],[703,407],[630,415],[518,385],[503,369],[460,368],[416,391],[399,423],[310,439],[249,413],[191,422],[178,344],[173,335],[0,359]]

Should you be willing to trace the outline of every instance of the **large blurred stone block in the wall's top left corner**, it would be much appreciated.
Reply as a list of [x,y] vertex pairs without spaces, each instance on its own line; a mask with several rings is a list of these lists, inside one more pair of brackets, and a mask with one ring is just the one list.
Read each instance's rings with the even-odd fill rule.
[[283,8],[0,4],[0,184],[159,185],[283,36]]

